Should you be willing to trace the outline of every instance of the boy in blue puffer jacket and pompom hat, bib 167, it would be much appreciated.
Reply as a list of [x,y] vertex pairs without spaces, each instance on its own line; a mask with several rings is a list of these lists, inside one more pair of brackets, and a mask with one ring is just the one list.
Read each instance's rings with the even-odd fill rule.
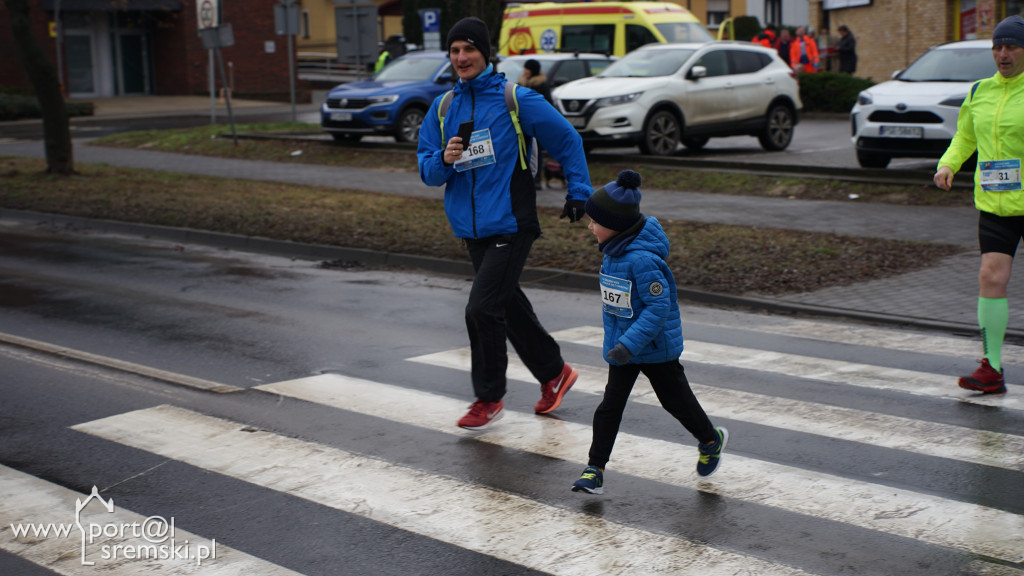
[[590,459],[573,492],[604,492],[604,466],[641,372],[662,406],[700,443],[698,475],[711,476],[718,468],[729,440],[728,430],[712,425],[679,363],[683,327],[676,282],[666,262],[669,238],[656,218],[640,213],[639,187],[640,174],[624,170],[615,181],[595,190],[585,207],[588,228],[604,254],[601,300],[608,383],[594,413]]

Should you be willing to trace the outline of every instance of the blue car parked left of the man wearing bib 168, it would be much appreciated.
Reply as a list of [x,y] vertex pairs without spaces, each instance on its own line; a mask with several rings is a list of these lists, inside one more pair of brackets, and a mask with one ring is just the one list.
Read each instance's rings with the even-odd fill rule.
[[399,142],[415,142],[430,104],[452,89],[456,80],[447,52],[411,52],[389,63],[372,80],[331,89],[321,107],[321,127],[336,140],[385,134]]

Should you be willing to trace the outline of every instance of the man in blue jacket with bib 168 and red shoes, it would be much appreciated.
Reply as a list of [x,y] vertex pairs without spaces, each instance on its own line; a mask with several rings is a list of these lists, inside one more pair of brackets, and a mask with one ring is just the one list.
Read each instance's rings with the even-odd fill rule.
[[[479,429],[501,416],[506,338],[541,382],[537,413],[556,409],[577,378],[519,287],[526,256],[541,235],[526,146],[530,138],[562,164],[567,181],[562,217],[570,222],[583,217],[593,190],[583,140],[565,118],[541,94],[521,86],[514,91],[516,106],[506,102],[507,80],[488,63],[490,35],[482,20],[456,23],[447,50],[459,81],[443,124],[439,106],[444,95],[427,112],[417,155],[423,182],[444,186],[444,212],[456,237],[465,241],[475,271],[466,327],[476,401],[459,425]],[[512,117],[516,108],[521,137]],[[466,142],[458,134],[469,122],[472,135]]]

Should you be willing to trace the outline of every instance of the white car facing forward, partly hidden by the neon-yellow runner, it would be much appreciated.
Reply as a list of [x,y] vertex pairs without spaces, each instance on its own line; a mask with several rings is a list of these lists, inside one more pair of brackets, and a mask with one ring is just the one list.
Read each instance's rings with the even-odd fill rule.
[[860,92],[850,111],[857,162],[885,168],[893,158],[941,157],[971,86],[995,72],[991,40],[949,42]]

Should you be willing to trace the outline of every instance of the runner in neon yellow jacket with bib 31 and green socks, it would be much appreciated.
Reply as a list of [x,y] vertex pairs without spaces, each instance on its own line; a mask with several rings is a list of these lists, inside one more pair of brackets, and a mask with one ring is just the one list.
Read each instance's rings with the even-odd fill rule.
[[971,88],[961,106],[956,134],[939,159],[935,186],[949,190],[953,173],[975,148],[974,204],[979,210],[978,326],[984,343],[981,366],[958,381],[962,388],[1005,394],[1002,339],[1010,322],[1007,286],[1014,254],[1024,238],[1024,18],[1010,16],[992,33],[997,74]]

